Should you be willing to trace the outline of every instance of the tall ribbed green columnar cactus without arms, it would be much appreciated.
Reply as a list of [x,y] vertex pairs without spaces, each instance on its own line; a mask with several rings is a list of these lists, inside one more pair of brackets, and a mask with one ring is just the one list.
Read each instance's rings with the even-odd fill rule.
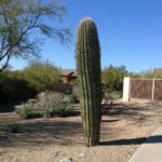
[[102,95],[99,41],[95,23],[90,17],[79,24],[76,58],[84,138],[90,147],[99,143]]

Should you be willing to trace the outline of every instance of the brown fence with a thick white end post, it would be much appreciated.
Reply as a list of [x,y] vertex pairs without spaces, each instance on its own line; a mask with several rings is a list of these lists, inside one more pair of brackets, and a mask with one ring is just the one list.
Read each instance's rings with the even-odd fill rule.
[[123,100],[131,98],[162,99],[162,79],[134,79],[123,80]]

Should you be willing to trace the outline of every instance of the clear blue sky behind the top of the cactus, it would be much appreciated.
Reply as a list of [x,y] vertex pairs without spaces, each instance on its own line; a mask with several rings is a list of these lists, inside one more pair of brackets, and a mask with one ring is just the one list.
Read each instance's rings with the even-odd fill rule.
[[[67,12],[58,27],[69,28],[69,46],[46,39],[41,55],[59,68],[75,69],[77,27],[81,18],[95,22],[102,54],[102,68],[124,65],[129,71],[162,68],[161,0],[62,0]],[[13,69],[27,60],[12,59]]]

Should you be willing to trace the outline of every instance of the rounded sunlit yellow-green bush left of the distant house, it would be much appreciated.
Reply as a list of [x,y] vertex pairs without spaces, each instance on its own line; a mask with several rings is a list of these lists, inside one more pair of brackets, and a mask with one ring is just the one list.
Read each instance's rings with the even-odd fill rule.
[[32,62],[22,72],[25,80],[39,93],[54,89],[60,80],[58,68],[48,62]]

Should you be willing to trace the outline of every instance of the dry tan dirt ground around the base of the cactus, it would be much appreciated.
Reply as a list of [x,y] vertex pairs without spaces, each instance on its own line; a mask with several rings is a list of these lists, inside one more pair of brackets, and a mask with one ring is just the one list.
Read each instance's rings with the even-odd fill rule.
[[3,112],[0,162],[59,162],[66,157],[73,162],[127,162],[160,125],[160,102],[116,100],[102,118],[100,145],[87,148],[80,116],[22,120],[14,112]]

